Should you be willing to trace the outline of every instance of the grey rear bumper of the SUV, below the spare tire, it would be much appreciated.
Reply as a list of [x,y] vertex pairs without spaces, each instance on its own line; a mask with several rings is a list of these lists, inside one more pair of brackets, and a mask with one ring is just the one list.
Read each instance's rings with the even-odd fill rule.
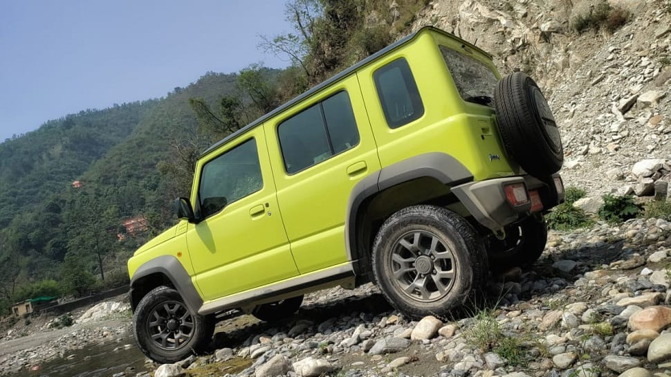
[[526,203],[513,205],[506,197],[505,187],[519,184],[524,185],[527,195],[531,191],[537,192],[542,211],[564,201],[564,185],[558,173],[544,180],[533,176],[513,176],[464,183],[452,187],[452,192],[475,220],[496,232],[532,213],[531,199]]

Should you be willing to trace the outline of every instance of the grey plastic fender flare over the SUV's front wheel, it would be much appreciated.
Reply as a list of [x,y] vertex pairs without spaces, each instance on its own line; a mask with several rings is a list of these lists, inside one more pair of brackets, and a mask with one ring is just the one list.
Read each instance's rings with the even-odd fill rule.
[[[187,308],[189,308],[192,313],[198,313],[201,306],[203,306],[203,299],[196,290],[189,273],[187,273],[178,259],[172,255],[162,255],[151,259],[136,270],[131,279],[131,289],[129,292],[133,310],[135,310],[134,302],[136,301],[133,300],[134,288],[143,277],[154,274],[160,274],[167,277],[178,291],[179,295],[182,296]],[[137,301],[139,302],[141,299],[142,297],[138,297]]]

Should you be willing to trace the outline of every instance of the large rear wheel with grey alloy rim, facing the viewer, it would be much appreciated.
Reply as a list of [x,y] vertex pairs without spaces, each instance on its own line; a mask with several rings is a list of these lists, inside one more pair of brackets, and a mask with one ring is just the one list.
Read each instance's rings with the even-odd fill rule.
[[380,291],[394,308],[414,319],[445,318],[472,304],[486,281],[487,264],[484,244],[470,223],[433,205],[392,214],[373,245],[373,273]]

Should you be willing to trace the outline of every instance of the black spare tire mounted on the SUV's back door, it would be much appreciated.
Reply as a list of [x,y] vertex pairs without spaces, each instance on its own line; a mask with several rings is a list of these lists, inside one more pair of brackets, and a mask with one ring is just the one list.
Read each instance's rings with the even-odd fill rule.
[[494,104],[508,155],[533,176],[558,172],[564,163],[559,128],[531,77],[515,72],[502,78],[494,93]]

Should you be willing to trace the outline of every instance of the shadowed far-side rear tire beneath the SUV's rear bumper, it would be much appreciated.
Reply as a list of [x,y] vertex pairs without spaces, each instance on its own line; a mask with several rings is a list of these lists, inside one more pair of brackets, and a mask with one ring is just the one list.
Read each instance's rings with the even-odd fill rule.
[[490,239],[489,265],[494,272],[515,266],[528,267],[540,258],[547,243],[547,223],[543,217],[528,217],[506,227],[506,238]]

